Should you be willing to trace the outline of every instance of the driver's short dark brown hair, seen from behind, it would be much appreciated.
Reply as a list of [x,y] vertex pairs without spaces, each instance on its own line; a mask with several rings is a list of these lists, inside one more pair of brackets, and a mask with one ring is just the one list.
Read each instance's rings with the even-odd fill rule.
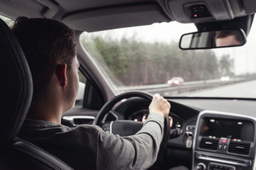
[[68,68],[75,57],[73,30],[47,18],[18,17],[12,28],[28,60],[33,77],[33,94],[43,93],[57,62]]

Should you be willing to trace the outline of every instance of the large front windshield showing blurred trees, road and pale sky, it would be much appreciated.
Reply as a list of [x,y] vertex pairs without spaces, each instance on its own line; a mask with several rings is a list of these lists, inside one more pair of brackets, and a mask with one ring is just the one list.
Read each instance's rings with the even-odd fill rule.
[[254,25],[244,46],[213,50],[179,49],[181,35],[197,30],[177,22],[85,32],[80,42],[117,93],[255,98]]

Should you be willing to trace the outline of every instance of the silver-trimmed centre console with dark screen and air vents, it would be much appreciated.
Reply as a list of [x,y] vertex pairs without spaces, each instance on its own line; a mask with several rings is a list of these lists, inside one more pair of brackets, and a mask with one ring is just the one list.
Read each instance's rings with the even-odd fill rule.
[[203,111],[193,139],[193,169],[255,169],[254,118]]

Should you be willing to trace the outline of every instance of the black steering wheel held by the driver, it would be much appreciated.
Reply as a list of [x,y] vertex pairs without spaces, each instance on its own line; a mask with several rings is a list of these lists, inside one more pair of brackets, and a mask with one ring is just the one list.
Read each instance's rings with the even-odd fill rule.
[[[114,98],[111,98],[110,101],[107,101],[107,103],[105,103],[105,105],[102,106],[93,124],[98,125],[102,129],[108,130],[111,133],[118,134],[120,136],[134,135],[136,132],[138,132],[142,128],[143,123],[136,122],[133,120],[118,120],[119,118],[117,115],[120,115],[120,114],[112,110],[113,106],[117,104],[119,101],[122,101],[122,99],[132,98],[132,97],[144,98],[147,101],[151,101],[153,98],[151,94],[145,91],[127,91],[127,92],[124,92],[123,94],[119,94],[118,96],[114,96]],[[107,118],[108,114],[111,114],[112,116],[114,116],[116,120],[106,123],[105,118]],[[164,152],[168,145],[169,132],[170,132],[170,123],[169,123],[169,117],[167,116],[164,120],[164,137],[161,141],[159,154],[157,157],[158,160],[164,157]]]

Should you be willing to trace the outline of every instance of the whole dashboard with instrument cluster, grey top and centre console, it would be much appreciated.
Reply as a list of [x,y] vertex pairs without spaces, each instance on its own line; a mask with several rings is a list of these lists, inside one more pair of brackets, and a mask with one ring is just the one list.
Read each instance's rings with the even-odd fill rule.
[[[186,166],[188,169],[255,169],[255,101],[222,98],[169,98],[171,120],[169,142],[164,167]],[[115,106],[116,116],[107,121],[133,120],[143,122],[149,113],[149,103],[142,98],[131,98]],[[63,115],[79,116],[73,125],[88,122],[97,111],[81,117],[82,108]],[[221,111],[221,112],[220,112]],[[85,116],[85,115],[82,115]],[[68,118],[69,118],[68,117]],[[78,121],[79,119],[79,121]],[[76,121],[75,121],[76,120]],[[90,119],[91,121],[91,119]],[[64,121],[63,121],[64,122]]]

